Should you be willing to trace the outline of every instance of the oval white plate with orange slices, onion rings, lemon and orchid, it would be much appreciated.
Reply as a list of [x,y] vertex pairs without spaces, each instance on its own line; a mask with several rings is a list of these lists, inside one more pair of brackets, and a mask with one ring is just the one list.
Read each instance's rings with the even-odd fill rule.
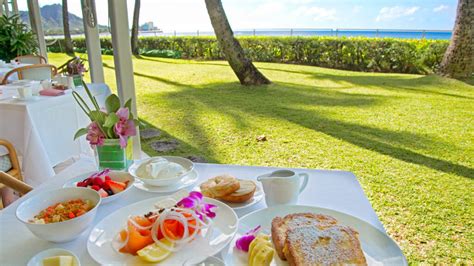
[[92,229],[87,249],[100,264],[192,264],[220,252],[237,224],[227,205],[180,191],[110,214]]

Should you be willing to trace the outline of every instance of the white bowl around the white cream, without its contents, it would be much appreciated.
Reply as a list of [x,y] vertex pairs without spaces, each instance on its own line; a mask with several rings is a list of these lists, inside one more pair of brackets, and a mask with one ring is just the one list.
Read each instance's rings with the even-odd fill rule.
[[[138,175],[137,171],[142,169],[142,167],[145,167],[146,163],[157,159],[157,158],[165,158],[166,160],[177,163],[181,165],[185,171],[183,174],[178,175],[176,177],[172,178],[143,178],[140,175]],[[192,170],[194,169],[194,163],[186,158],[183,157],[178,157],[178,156],[158,156],[158,157],[151,157],[148,159],[143,159],[140,161],[137,161],[128,168],[128,172],[134,176],[137,179],[140,179],[143,183],[150,185],[150,186],[157,186],[157,187],[162,187],[162,186],[170,186],[170,185],[175,185],[177,182],[180,182],[183,177],[187,176]]]

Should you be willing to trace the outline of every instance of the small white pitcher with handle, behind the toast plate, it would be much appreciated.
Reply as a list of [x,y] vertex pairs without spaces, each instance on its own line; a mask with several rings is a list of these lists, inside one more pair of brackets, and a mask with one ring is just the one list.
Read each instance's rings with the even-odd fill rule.
[[262,182],[265,202],[268,207],[291,205],[298,202],[298,197],[308,185],[309,175],[295,173],[291,170],[277,170],[257,177]]

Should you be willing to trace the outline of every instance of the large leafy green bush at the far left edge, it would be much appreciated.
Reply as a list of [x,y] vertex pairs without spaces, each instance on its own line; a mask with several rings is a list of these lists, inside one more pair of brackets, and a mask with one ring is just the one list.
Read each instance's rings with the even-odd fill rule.
[[4,61],[38,51],[34,33],[18,15],[0,17],[0,47],[0,59]]

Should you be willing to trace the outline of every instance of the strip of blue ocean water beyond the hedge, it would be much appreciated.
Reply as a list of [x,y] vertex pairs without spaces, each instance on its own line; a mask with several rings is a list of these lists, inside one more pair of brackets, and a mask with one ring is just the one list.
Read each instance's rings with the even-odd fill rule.
[[[213,36],[211,31],[194,32],[140,32],[141,36]],[[403,39],[449,40],[451,31],[423,30],[235,30],[235,36],[334,36],[334,37],[390,37]]]

